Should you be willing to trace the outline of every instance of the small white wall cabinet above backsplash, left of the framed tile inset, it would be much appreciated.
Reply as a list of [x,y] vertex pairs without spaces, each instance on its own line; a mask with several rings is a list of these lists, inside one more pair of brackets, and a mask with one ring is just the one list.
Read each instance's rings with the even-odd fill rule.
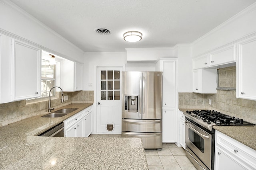
[[216,94],[217,69],[207,68],[193,71],[193,92]]

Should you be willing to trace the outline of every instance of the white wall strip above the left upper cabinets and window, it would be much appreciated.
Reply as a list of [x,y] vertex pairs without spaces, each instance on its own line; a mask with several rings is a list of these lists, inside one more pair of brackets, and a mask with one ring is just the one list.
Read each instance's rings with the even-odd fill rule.
[[82,50],[6,0],[0,0],[0,32],[32,41],[60,57],[83,61]]

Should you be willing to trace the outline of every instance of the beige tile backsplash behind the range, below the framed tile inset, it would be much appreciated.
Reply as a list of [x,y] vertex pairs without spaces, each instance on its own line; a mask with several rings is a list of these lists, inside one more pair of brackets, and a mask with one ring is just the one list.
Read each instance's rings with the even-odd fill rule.
[[[209,99],[212,104],[209,104]],[[210,109],[256,123],[256,101],[236,98],[235,91],[217,94],[179,93],[179,108]]]

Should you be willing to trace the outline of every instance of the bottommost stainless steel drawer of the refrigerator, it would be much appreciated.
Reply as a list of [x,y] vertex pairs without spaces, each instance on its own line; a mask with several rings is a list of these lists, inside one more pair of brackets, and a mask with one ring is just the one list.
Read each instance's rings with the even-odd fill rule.
[[122,132],[122,137],[140,137],[144,149],[162,148],[162,133]]

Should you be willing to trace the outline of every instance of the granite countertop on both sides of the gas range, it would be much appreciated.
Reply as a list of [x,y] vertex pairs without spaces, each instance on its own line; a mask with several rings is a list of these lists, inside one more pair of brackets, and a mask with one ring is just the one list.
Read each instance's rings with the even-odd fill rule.
[[[180,111],[193,111],[204,109],[180,109]],[[214,129],[232,137],[236,141],[256,150],[256,125],[244,126],[213,126]]]

